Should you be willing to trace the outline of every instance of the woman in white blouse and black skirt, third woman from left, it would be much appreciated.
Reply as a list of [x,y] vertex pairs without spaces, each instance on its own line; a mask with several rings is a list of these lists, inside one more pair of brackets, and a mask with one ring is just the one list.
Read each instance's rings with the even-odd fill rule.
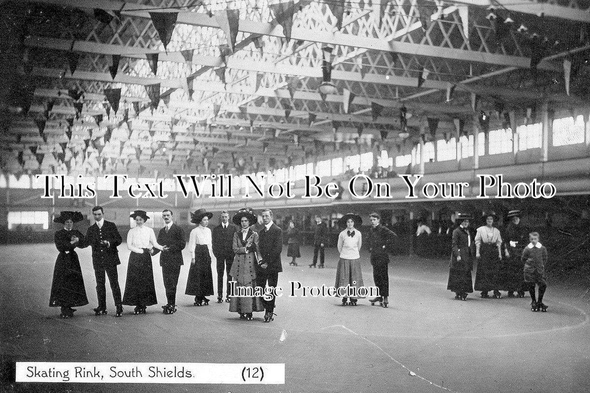
[[191,250],[191,268],[186,280],[185,295],[195,296],[195,306],[209,305],[205,296],[213,296],[213,273],[211,259],[213,256],[213,242],[211,229],[207,227],[213,213],[199,209],[191,213],[191,222],[197,227],[191,231],[188,248]]

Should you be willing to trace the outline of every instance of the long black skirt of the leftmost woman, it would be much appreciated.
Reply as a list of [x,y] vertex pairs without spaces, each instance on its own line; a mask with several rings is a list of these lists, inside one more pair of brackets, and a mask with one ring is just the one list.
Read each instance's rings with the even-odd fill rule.
[[86,306],[86,288],[76,252],[60,252],[55,260],[51,282],[50,307]]

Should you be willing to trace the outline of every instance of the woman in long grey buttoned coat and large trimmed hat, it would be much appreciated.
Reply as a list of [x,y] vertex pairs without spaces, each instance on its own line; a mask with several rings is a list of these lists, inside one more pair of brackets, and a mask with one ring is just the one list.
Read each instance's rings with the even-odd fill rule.
[[[240,226],[240,230],[234,233],[233,250],[234,262],[231,264],[230,276],[235,282],[234,288],[246,288],[252,290],[256,286],[256,266],[260,247],[258,246],[258,233],[250,227],[250,223],[256,222],[256,216],[252,209],[241,209],[232,218],[234,224]],[[264,311],[262,298],[258,296],[234,296],[230,297],[230,312],[237,312],[241,319],[252,321],[252,313]]]

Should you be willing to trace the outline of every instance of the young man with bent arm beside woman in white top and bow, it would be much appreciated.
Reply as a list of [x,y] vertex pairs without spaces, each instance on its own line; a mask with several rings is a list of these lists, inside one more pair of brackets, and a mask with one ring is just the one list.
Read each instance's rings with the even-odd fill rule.
[[379,213],[371,213],[371,229],[369,230],[369,250],[371,251],[371,265],[373,266],[373,281],[379,288],[379,296],[371,299],[371,304],[381,303],[383,307],[389,304],[389,252],[397,236],[387,227],[381,225]]

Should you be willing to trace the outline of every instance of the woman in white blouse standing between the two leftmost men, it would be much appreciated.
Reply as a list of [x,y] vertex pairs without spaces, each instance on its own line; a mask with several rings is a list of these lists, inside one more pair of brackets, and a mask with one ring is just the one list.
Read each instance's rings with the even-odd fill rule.
[[127,265],[123,304],[135,306],[134,314],[145,314],[148,306],[158,303],[153,282],[153,249],[155,247],[163,250],[164,247],[156,241],[153,229],[144,225],[149,220],[146,212],[135,210],[129,217],[135,219],[137,226],[127,233],[127,249],[131,254]]

